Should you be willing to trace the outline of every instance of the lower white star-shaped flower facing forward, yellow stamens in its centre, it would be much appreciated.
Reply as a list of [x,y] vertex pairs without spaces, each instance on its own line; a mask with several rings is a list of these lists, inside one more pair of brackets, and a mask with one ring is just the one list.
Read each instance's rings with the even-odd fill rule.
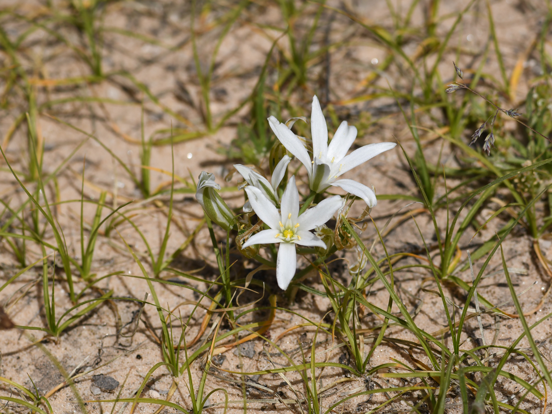
[[295,245],[325,248],[325,243],[309,230],[330,220],[333,214],[343,206],[343,199],[334,195],[299,215],[299,193],[293,176],[282,195],[281,213],[258,188],[248,186],[245,190],[253,210],[270,229],[259,231],[251,236],[243,243],[243,247],[280,243],[276,262],[276,278],[278,286],[285,290],[295,275],[297,266]]

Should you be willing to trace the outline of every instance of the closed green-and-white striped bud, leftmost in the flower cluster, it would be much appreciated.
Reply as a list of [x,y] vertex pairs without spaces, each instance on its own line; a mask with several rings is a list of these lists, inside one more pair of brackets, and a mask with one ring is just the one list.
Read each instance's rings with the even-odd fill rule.
[[201,172],[195,198],[212,221],[222,229],[229,230],[234,225],[234,214],[215,189],[220,190],[220,185],[215,183],[214,174]]

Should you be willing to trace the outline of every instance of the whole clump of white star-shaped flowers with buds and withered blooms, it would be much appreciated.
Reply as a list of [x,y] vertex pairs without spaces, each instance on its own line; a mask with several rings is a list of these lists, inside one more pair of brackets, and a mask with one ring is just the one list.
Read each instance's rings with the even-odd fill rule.
[[[326,190],[341,187],[364,200],[368,208],[373,208],[377,203],[373,189],[352,179],[339,177],[381,152],[390,150],[396,144],[369,144],[347,155],[357,137],[357,129],[343,121],[328,145],[326,120],[316,96],[312,99],[311,114],[312,157],[303,144],[304,141],[286,124],[280,123],[274,116],[270,116],[268,122],[280,143],[307,169],[310,194],[307,191],[308,195],[301,200],[295,176],[291,176],[289,180],[284,179],[288,174],[287,167],[291,158],[283,155],[275,166],[270,181],[253,168],[241,164],[234,166],[245,180],[238,188],[245,188],[247,195],[243,209],[235,210],[237,216],[215,191],[220,189],[220,186],[215,183],[213,174],[201,173],[196,197],[211,220],[227,231],[237,227],[238,250],[247,257],[256,258],[263,264],[275,267],[278,286],[285,290],[295,275],[298,253],[312,254],[314,251],[330,252],[332,248],[333,251],[335,248],[343,248],[341,243],[331,246],[335,242],[332,237],[324,236],[323,240],[320,238],[322,233],[319,229],[336,212],[338,215],[341,214],[344,207],[344,199],[339,195],[323,198]],[[285,189],[282,188],[282,183],[287,183]],[[311,205],[316,194],[318,203]],[[241,213],[240,210],[245,213]],[[340,225],[342,220],[337,222]],[[316,231],[313,233],[312,230]],[[335,234],[337,233],[336,229]],[[278,250],[270,247],[274,243],[278,243]],[[259,255],[256,250],[253,253],[248,250],[251,246],[257,245],[268,247],[264,250],[268,258],[264,253]],[[257,256],[254,256],[255,254]]]

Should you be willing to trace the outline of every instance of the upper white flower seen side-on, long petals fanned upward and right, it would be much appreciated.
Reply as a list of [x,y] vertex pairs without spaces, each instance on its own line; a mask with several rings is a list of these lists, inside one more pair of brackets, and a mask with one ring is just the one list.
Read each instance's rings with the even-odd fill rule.
[[357,129],[343,121],[328,145],[326,120],[316,95],[312,98],[311,113],[312,161],[299,138],[285,124],[280,123],[274,116],[270,116],[268,122],[286,150],[306,167],[311,190],[322,193],[330,186],[341,187],[346,192],[362,198],[370,208],[376,205],[376,195],[371,188],[351,179],[337,178],[370,158],[391,150],[395,147],[395,142],[365,145],[347,155],[357,137]]

